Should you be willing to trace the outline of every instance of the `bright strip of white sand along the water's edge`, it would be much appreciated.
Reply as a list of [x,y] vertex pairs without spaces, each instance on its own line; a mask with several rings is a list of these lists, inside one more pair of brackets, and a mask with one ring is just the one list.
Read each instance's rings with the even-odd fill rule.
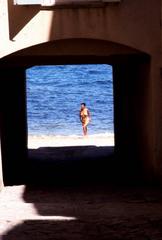
[[61,146],[114,146],[113,134],[83,136],[32,136],[28,138],[28,148],[61,147]]

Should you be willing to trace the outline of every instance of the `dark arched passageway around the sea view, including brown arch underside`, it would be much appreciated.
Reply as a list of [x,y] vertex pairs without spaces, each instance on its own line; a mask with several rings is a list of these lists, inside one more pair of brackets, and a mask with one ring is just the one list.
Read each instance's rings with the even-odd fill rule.
[[[48,155],[49,161],[46,161],[49,163],[48,166],[46,165],[47,168],[42,162],[38,167],[36,155],[34,164],[29,161],[31,156],[30,153],[27,154],[25,71],[34,65],[58,64],[110,64],[113,66],[115,133],[113,156],[110,154],[111,149],[99,157],[100,159],[97,158],[96,153],[92,153],[93,158],[83,156],[80,159],[83,149],[78,147],[77,156],[74,154],[74,149],[70,150],[74,159],[79,159],[77,164],[75,161],[68,162],[62,158],[61,167],[56,159],[55,165],[51,168],[51,152]],[[116,180],[141,179],[147,175],[146,173],[152,171],[150,149],[148,149],[149,137],[147,142],[145,140],[151,126],[151,118],[149,118],[150,61],[146,54],[104,41],[67,40],[66,45],[64,41],[58,41],[55,46],[53,43],[47,43],[18,52],[4,59],[1,70],[2,79],[4,79],[3,90],[13,99],[8,105],[3,106],[1,134],[3,172],[6,182],[13,182],[22,177],[26,179],[25,181],[44,182],[48,179],[50,182],[56,182],[60,176],[63,181],[66,181],[69,179],[69,172],[72,173],[73,181],[83,176],[85,180],[92,179],[92,175],[95,179],[98,173],[103,181],[109,177]],[[11,78],[14,79],[13,82]],[[11,86],[10,89],[8,84]],[[7,111],[8,109],[11,110]],[[61,157],[62,152],[58,150],[56,156]],[[65,151],[65,155],[68,156],[68,154],[69,152]],[[96,161],[95,158],[97,158]]]

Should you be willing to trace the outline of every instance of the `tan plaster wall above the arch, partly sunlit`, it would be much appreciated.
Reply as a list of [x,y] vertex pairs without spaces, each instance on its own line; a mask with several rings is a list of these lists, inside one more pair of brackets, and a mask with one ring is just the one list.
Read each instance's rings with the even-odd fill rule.
[[1,57],[36,44],[74,38],[108,40],[150,54],[160,47],[160,0],[51,10],[17,6],[8,0],[0,2],[0,9]]

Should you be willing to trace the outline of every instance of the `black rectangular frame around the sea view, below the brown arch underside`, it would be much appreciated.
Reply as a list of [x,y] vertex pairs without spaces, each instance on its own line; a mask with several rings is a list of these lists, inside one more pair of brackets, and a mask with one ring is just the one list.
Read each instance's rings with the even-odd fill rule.
[[[106,161],[104,164],[100,164],[103,170],[102,172],[100,169],[100,175],[109,176],[111,172],[114,179],[121,181],[128,178],[141,180],[148,173],[151,173],[152,166],[149,160],[151,157],[145,142],[145,132],[148,132],[150,127],[150,122],[147,120],[149,116],[150,57],[147,54],[130,52],[114,53],[109,56],[24,56],[23,51],[22,53],[23,56],[19,54],[11,55],[0,63],[1,89],[6,93],[2,104],[1,118],[2,162],[5,184],[35,181],[36,179],[38,182],[40,181],[39,177],[35,175],[35,166],[29,164],[27,151],[25,69],[34,65],[86,63],[112,65],[115,149],[112,166],[108,164],[107,158],[109,156],[106,155],[104,158]],[[14,81],[11,81],[11,79],[14,79]],[[8,88],[9,85],[10,88]],[[6,105],[5,100],[8,96],[13,101]],[[8,109],[12,111],[8,111]],[[143,111],[143,109],[145,110]],[[81,164],[85,162],[83,160]],[[83,164],[83,166],[86,165]],[[98,166],[98,162],[96,162],[96,172]],[[79,168],[78,165],[77,169]],[[88,169],[92,169],[91,163]],[[32,177],[30,177],[30,170],[33,171]],[[76,173],[74,179],[75,176]],[[96,177],[96,173],[94,176]],[[87,177],[91,178],[88,171]],[[55,179],[55,176],[52,176],[52,178]],[[49,179],[51,181],[51,178]],[[106,179],[107,177],[104,178],[104,181]]]

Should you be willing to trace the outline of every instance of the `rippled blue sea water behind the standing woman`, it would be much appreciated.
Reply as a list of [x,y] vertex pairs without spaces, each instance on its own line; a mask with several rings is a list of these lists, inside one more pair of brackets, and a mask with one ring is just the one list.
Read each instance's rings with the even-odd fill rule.
[[81,102],[91,112],[89,134],[113,133],[110,65],[35,66],[26,77],[29,135],[82,135]]

